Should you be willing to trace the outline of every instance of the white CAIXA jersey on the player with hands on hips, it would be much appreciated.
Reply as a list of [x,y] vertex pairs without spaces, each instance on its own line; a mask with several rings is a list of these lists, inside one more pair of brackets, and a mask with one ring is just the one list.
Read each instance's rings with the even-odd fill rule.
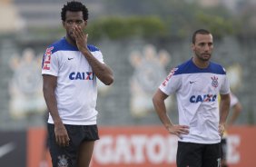
[[172,69],[160,90],[167,95],[176,93],[179,124],[190,127],[181,142],[217,143],[220,113],[218,94],[230,93],[230,84],[222,65],[210,63],[198,68],[192,59]]

